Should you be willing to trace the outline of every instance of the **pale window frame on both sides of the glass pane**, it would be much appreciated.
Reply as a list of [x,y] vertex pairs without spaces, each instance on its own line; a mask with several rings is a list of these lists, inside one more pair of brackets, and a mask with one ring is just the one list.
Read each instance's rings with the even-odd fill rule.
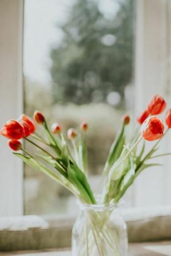
[[[169,0],[137,0],[135,43],[135,115],[154,93],[170,97],[171,4]],[[23,111],[23,12],[24,0],[0,1],[1,125]],[[167,13],[167,15],[166,15]],[[168,42],[166,45],[165,42]],[[171,139],[171,137],[170,137]],[[167,142],[165,142],[167,145]],[[170,148],[169,148],[170,147]],[[166,151],[171,151],[168,145]],[[12,156],[7,140],[0,137],[0,216],[23,215],[23,164]],[[133,206],[171,203],[171,171],[148,170],[133,185]],[[158,182],[156,182],[158,180]],[[150,181],[150,182],[149,182]],[[159,182],[161,181],[161,182]],[[144,189],[145,184],[145,189]],[[167,185],[167,192],[164,192]],[[160,188],[160,189],[159,189]],[[161,193],[163,191],[163,193]]]

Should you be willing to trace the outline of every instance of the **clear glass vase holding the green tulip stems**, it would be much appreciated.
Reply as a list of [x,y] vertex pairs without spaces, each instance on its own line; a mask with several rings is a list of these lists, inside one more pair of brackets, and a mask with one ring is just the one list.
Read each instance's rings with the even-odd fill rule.
[[119,204],[87,205],[78,201],[72,230],[72,256],[126,256],[127,227]]

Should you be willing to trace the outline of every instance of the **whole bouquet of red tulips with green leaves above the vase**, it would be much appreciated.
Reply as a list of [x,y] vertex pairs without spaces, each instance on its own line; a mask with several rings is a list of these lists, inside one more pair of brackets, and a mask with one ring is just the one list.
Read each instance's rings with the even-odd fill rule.
[[[102,172],[103,179],[100,183],[103,184],[102,204],[117,203],[144,169],[159,165],[153,163],[153,159],[168,155],[167,153],[156,154],[160,139],[171,127],[171,109],[167,111],[165,118],[168,127],[165,132],[162,120],[157,117],[165,108],[166,102],[163,97],[155,95],[150,100],[147,109],[138,117],[139,126],[129,141],[125,136],[125,129],[129,125],[130,118],[128,115],[123,117],[122,125],[109,150]],[[43,126],[46,135],[38,134],[36,124]],[[97,204],[88,183],[85,144],[87,130],[88,124],[83,122],[79,132],[71,128],[66,138],[60,125],[54,123],[50,129],[42,112],[35,111],[34,121],[26,115],[21,115],[18,120],[6,122],[1,135],[7,137],[11,149],[22,151],[14,152],[14,155],[20,157],[26,164],[42,171],[66,187],[84,204]],[[34,153],[26,151],[21,139],[31,143],[38,151]],[[149,152],[145,150],[145,140],[157,140]],[[103,255],[102,252],[99,255]],[[113,255],[119,255],[119,253]]]

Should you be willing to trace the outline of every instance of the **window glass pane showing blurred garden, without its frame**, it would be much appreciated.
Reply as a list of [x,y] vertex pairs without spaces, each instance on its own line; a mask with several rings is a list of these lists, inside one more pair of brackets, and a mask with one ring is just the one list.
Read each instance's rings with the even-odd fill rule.
[[[133,110],[134,1],[26,0],[24,19],[25,112],[43,111],[65,134],[89,122],[95,190],[120,118]],[[28,166],[24,173],[25,214],[74,211],[66,189]]]

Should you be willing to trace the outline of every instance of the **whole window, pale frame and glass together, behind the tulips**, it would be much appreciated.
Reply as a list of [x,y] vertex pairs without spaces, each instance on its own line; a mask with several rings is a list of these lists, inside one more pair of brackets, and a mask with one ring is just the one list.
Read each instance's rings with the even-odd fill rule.
[[[107,57],[112,58],[114,51],[116,51],[114,49],[118,46],[117,36],[121,38],[122,36],[124,38],[128,36],[129,40],[121,40],[121,44],[119,45],[123,47],[123,60],[125,61],[124,58],[126,58],[126,60],[129,61],[126,62],[127,65],[125,65],[125,69],[122,70],[123,66],[119,66],[119,60],[121,60],[119,51],[116,51],[118,58],[112,58],[111,60],[113,61],[112,67],[107,65],[109,70],[112,68],[112,72],[110,72],[112,78],[110,77],[110,79],[118,79],[115,77],[115,75],[117,75],[117,77],[120,76],[120,78],[123,78],[124,81],[118,82],[119,80],[112,80],[115,81],[115,83],[112,83],[111,86],[111,80],[107,80],[105,90],[102,93],[100,89],[104,82],[106,82],[105,76],[102,76],[104,75],[103,72],[96,73],[96,70],[87,72],[86,68],[84,68],[84,80],[80,77],[76,77],[77,79],[75,80],[74,76],[78,75],[76,72],[79,70],[78,68],[83,68],[87,65],[87,63],[79,62],[84,60],[84,58],[82,58],[83,52],[81,51],[82,48],[80,49],[80,47],[77,46],[80,40],[78,29],[73,29],[74,26],[76,26],[74,22],[77,22],[77,19],[72,20],[71,13],[73,6],[77,4],[76,0],[26,0],[25,7],[23,7],[22,0],[8,1],[8,3],[7,1],[0,1],[0,99],[2,106],[0,114],[1,124],[3,124],[3,122],[11,117],[17,118],[23,111],[22,31],[24,30],[24,111],[32,115],[35,108],[41,109],[48,117],[50,123],[55,118],[63,124],[64,130],[67,130],[70,126],[77,126],[82,118],[89,121],[92,130],[94,126],[99,128],[99,124],[101,126],[103,124],[102,132],[107,132],[108,136],[108,140],[105,142],[105,149],[102,148],[104,141],[101,134],[98,133],[99,137],[98,135],[94,137],[90,128],[87,137],[90,154],[89,164],[92,173],[91,179],[94,180],[94,175],[97,175],[102,169],[102,164],[104,163],[109,144],[112,140],[111,138],[115,136],[115,131],[118,129],[118,121],[115,120],[119,120],[125,110],[130,113],[135,112],[135,115],[137,115],[138,112],[143,109],[143,106],[147,104],[149,97],[154,93],[160,93],[167,97],[168,102],[170,100],[171,8],[169,0],[137,0],[135,1],[136,7],[133,1],[130,1],[133,5],[128,4],[127,7],[124,6],[124,3],[127,4],[129,1],[105,1],[105,5],[103,4],[104,1],[100,0],[80,2],[89,4],[87,13],[90,12],[91,14],[91,10],[93,10],[92,16],[90,17],[94,18],[93,15],[95,15],[95,8],[91,8],[91,4],[98,6],[98,8],[96,8],[96,10],[98,10],[97,13],[102,16],[102,20],[99,20],[99,22],[92,22],[93,27],[91,27],[92,23],[90,23],[89,27],[86,26],[87,29],[82,29],[82,32],[86,31],[85,38],[88,40],[89,34],[87,33],[92,33],[92,37],[90,37],[92,40],[91,43],[95,42],[94,40],[98,41],[98,47],[100,48],[95,47],[95,52],[91,52],[95,54],[95,65],[105,67],[105,63],[109,64],[110,62],[107,61]],[[120,19],[116,22],[122,8],[124,12],[122,15],[120,14]],[[151,11],[152,9],[153,12]],[[114,10],[114,12],[111,10]],[[135,18],[133,10],[135,10],[137,16],[136,26],[134,26]],[[129,11],[130,15],[127,16]],[[58,15],[56,13],[58,13]],[[69,18],[72,21],[71,23],[68,22]],[[31,19],[33,22],[29,23]],[[129,22],[127,22],[127,19]],[[59,23],[59,20],[61,23]],[[126,20],[124,28],[127,29],[123,30],[122,35],[122,29],[120,30],[119,26],[122,27],[123,20]],[[81,26],[81,24],[82,23],[79,25]],[[66,27],[64,28],[63,26]],[[66,33],[69,31],[68,39],[66,38],[66,33],[62,31],[62,27],[63,29],[67,29],[65,30]],[[94,29],[97,29],[96,33]],[[135,44],[133,39],[134,35]],[[43,40],[43,42],[41,40]],[[68,43],[70,42],[68,40],[71,40],[72,43]],[[28,41],[31,42],[31,45],[28,45]],[[127,43],[126,45],[124,45],[125,42]],[[67,43],[73,48],[69,50]],[[89,41],[86,41],[86,43],[88,44]],[[135,45],[135,47],[133,47],[133,45]],[[61,51],[58,51],[60,47]],[[84,44],[82,47],[85,50]],[[100,49],[99,52],[98,49]],[[111,49],[113,49],[113,52],[110,56],[109,53]],[[64,54],[64,51],[67,50],[70,51],[69,55]],[[73,52],[77,52],[77,55],[73,55]],[[54,62],[56,55],[58,56],[57,60],[60,60],[56,62],[58,63],[57,66]],[[61,56],[65,56],[65,58]],[[68,60],[66,56],[68,56]],[[92,58],[93,54],[90,55],[87,53],[87,62],[89,56]],[[99,59],[100,57],[102,58]],[[99,60],[101,60],[101,62]],[[63,69],[62,65],[66,63],[72,63],[72,65],[66,65],[66,69]],[[83,63],[84,66],[79,65],[80,63]],[[128,63],[130,65],[128,65]],[[132,68],[133,66],[134,68]],[[93,67],[96,66],[93,65]],[[121,70],[117,72],[116,68],[119,67],[121,67]],[[56,68],[58,70],[57,77]],[[127,75],[121,75],[123,74],[122,72],[125,72]],[[67,76],[65,76],[66,73]],[[133,73],[135,73],[135,75],[133,75]],[[133,87],[134,76],[135,86]],[[64,88],[67,88],[64,85],[68,84],[68,80],[70,82],[71,77],[72,92],[77,89],[77,93],[73,93],[72,99],[68,96],[70,95],[68,90],[63,91]],[[79,87],[82,84],[89,86],[88,88],[90,88],[90,90],[83,93]],[[120,86],[121,84],[122,86]],[[62,87],[60,87],[60,85]],[[94,85],[97,87],[93,87]],[[89,92],[90,95],[86,96],[85,99],[84,96]],[[135,95],[134,99],[133,94]],[[46,97],[44,95],[46,95]],[[42,99],[43,105],[41,104]],[[74,102],[74,104],[71,104],[71,102]],[[135,102],[135,106],[133,106],[133,102]],[[91,106],[93,106],[94,111],[92,116],[89,115]],[[99,106],[103,110],[103,115],[101,113],[99,114]],[[102,116],[105,117],[105,123],[102,122]],[[66,122],[66,120],[68,120],[68,122]],[[95,138],[93,143],[90,143],[91,138]],[[48,186],[51,187],[51,191],[48,188],[49,194],[46,193],[46,191],[42,191],[40,188],[44,183],[44,179],[47,180],[47,178],[39,176],[36,171],[33,172],[32,170],[26,169],[26,166],[24,168],[23,182],[23,165],[21,161],[12,156],[11,150],[7,148],[6,141],[2,137],[0,140],[0,214],[2,216],[22,215],[23,209],[25,209],[25,214],[49,214],[59,213],[59,209],[61,209],[61,213],[65,213],[67,209],[72,208],[69,205],[73,204],[73,199],[70,197],[70,194],[67,194],[66,190],[64,191],[61,187],[58,188],[53,181],[52,185],[49,180]],[[170,144],[168,143],[169,140],[170,135],[168,135],[163,143],[163,147],[161,148],[163,152],[171,151]],[[98,150],[96,147],[92,147],[92,144],[95,145],[96,142],[101,146],[101,148],[97,146]],[[97,154],[99,154],[100,157],[97,156]],[[155,170],[149,169],[139,177],[132,191],[129,191],[129,195],[127,195],[129,205],[149,206],[170,204],[170,159],[163,159],[163,163],[164,167]],[[97,179],[97,176],[95,176],[95,179]],[[29,191],[29,193],[27,191]],[[51,198],[54,198],[54,201],[52,201]],[[36,202],[39,204],[38,207]]]

